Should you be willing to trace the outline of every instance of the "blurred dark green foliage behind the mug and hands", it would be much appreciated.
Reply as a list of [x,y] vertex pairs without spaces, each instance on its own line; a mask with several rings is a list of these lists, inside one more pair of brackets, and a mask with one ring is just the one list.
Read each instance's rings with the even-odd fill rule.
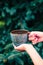
[[[43,0],[0,0],[0,65],[33,65],[13,48],[10,32],[17,29],[43,31]],[[43,42],[34,47],[43,58]]]

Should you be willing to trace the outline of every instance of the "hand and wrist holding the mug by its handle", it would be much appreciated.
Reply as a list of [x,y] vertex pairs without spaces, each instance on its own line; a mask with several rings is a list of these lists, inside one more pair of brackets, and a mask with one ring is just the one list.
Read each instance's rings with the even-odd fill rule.
[[43,32],[32,31],[28,35],[28,38],[29,38],[30,41],[32,41],[32,44],[36,44],[38,42],[42,42],[43,41]]

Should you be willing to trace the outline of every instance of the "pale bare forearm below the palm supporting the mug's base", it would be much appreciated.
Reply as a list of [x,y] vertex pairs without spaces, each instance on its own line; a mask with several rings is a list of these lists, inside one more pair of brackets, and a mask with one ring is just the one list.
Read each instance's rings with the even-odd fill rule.
[[30,46],[25,47],[26,52],[30,55],[34,65],[43,65],[43,60],[40,55],[37,53],[35,48],[30,44]]

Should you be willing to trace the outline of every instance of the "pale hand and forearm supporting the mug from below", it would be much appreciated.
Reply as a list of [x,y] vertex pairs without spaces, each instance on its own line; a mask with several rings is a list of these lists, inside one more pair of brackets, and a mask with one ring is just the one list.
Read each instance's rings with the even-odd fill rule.
[[14,48],[18,51],[26,51],[29,54],[30,58],[32,59],[34,65],[43,65],[42,58],[35,50],[32,44],[21,44],[20,46],[17,47],[14,46]]

